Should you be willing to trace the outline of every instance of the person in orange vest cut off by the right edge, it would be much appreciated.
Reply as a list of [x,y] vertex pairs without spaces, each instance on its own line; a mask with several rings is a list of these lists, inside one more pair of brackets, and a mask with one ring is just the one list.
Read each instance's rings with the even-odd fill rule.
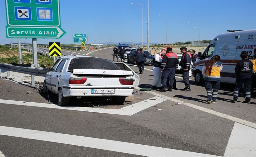
[[256,97],[256,49],[253,50],[254,51],[254,55],[253,56],[249,56],[249,61],[252,62],[252,73],[251,73],[251,98],[255,98]]

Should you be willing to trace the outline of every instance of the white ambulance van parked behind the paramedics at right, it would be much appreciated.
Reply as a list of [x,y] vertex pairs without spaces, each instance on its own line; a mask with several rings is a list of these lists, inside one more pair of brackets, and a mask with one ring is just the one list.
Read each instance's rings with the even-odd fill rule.
[[221,82],[235,83],[236,63],[241,60],[242,51],[247,51],[248,55],[254,55],[256,49],[256,29],[253,30],[227,30],[215,37],[204,53],[198,52],[198,60],[193,66],[195,82],[200,84],[203,81],[202,68],[204,63],[209,61],[214,55],[220,56],[223,69],[221,71]]

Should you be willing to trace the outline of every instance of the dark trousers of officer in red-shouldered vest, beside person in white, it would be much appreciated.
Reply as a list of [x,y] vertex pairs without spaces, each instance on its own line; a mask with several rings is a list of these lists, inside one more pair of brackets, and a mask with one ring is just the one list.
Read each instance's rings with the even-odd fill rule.
[[[161,84],[162,87],[167,87],[167,80],[169,79],[169,87],[173,87],[175,79],[175,70],[176,68],[165,68],[162,72]],[[175,80],[176,84],[176,80]]]

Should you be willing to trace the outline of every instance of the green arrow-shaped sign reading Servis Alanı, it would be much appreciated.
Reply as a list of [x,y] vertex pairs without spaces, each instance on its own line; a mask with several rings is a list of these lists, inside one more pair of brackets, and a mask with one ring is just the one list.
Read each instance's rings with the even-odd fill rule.
[[6,38],[61,38],[65,33],[60,27],[6,26]]

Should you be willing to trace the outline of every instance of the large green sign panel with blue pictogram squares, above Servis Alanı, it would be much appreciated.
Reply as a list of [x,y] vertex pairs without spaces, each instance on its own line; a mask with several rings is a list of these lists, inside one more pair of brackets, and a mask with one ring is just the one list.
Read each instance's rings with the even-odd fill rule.
[[59,0],[5,1],[8,26],[61,26]]

